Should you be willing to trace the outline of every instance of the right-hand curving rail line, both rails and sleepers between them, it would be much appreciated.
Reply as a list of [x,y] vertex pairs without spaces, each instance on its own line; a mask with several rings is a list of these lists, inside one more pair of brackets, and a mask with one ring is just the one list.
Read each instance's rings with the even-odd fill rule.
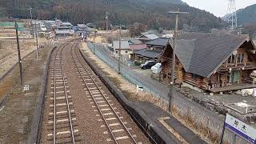
[[[108,100],[108,97],[106,97],[106,94],[104,94],[102,88],[98,86],[98,82],[95,82],[88,68],[86,68],[86,66],[82,63],[82,60],[78,57],[75,50],[77,46],[78,44],[72,46],[70,53],[74,61],[74,65],[78,70],[80,78],[82,78],[82,81],[86,86],[86,90],[88,90],[90,97],[97,106],[108,131],[114,139],[114,142],[119,143],[119,140],[130,138],[132,143],[137,143],[134,136],[130,133],[130,130],[126,127],[125,122],[122,122],[122,118],[118,115],[118,112],[116,112],[112,104],[110,104],[110,100]],[[111,117],[108,117],[109,115],[111,115]],[[118,127],[114,128],[114,126]],[[128,134],[128,136],[123,134]]]

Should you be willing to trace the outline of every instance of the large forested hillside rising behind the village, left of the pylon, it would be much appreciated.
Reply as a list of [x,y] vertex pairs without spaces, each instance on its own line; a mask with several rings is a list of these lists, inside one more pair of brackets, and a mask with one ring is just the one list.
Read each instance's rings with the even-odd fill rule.
[[29,7],[33,9],[33,17],[38,19],[60,18],[74,24],[82,22],[98,22],[110,12],[112,24],[130,26],[141,22],[148,28],[163,29],[174,27],[174,15],[166,14],[168,10],[187,11],[182,15],[180,26],[208,31],[222,26],[221,18],[204,10],[186,5],[180,0],[0,0],[0,17],[29,18]]

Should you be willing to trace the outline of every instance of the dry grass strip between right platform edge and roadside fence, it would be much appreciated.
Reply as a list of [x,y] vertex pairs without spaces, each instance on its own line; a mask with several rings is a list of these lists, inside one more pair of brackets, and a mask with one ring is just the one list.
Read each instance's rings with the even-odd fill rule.
[[[168,113],[168,104],[163,102],[161,98],[156,98],[152,94],[147,93],[146,91],[137,90],[137,87],[134,84],[128,82],[125,78],[120,76],[116,71],[114,71],[110,66],[107,66],[105,62],[102,62],[99,58],[97,58],[94,54],[92,54],[87,48],[86,44],[82,44],[82,50],[86,53],[86,55],[92,59],[98,67],[102,70],[103,73],[107,75],[108,78],[112,82],[118,86],[122,93],[126,95],[127,98],[134,102],[150,102],[153,103],[155,106],[160,107],[162,110],[165,110]],[[195,134],[198,134],[203,140],[208,143],[219,143],[220,135],[215,134],[210,131],[210,128],[205,126],[206,119],[202,118],[199,122],[195,122],[195,114],[188,112],[186,114],[180,113],[178,106],[173,106],[172,111],[175,118],[178,121],[182,122],[184,126],[187,126],[190,130],[192,130]],[[218,130],[221,127],[217,128]]]

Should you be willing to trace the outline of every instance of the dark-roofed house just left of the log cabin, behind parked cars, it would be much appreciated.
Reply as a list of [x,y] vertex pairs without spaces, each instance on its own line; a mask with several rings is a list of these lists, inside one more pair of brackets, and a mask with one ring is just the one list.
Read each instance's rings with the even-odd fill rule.
[[165,50],[169,38],[157,38],[146,42],[146,49],[137,50],[132,56],[132,60],[146,62],[147,60],[158,60]]

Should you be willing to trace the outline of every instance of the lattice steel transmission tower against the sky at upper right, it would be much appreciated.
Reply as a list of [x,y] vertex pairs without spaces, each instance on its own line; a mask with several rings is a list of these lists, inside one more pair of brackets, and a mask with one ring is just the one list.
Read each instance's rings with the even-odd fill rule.
[[228,0],[226,22],[228,22],[230,30],[234,30],[238,27],[237,8],[235,0]]

